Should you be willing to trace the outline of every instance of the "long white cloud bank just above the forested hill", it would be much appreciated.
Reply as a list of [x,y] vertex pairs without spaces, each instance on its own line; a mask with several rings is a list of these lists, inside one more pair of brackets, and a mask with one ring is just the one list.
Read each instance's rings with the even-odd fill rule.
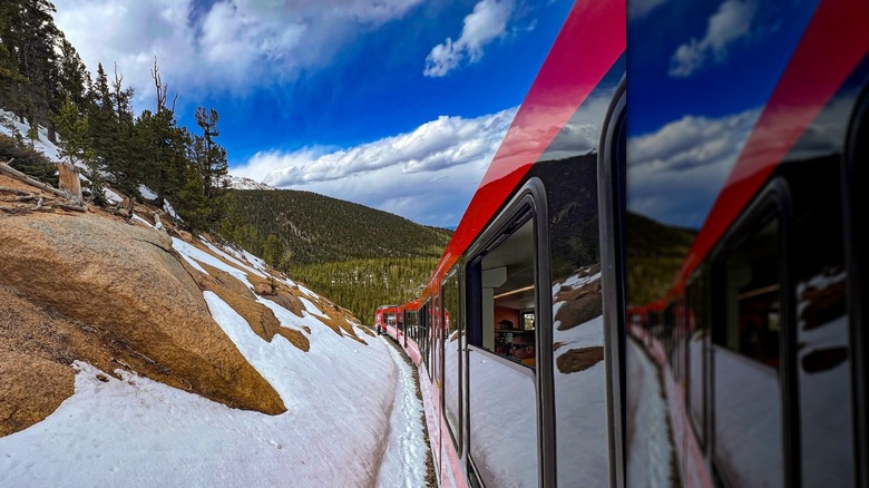
[[410,133],[351,148],[263,152],[231,173],[361,203],[414,222],[456,225],[516,110],[472,119],[439,117]]

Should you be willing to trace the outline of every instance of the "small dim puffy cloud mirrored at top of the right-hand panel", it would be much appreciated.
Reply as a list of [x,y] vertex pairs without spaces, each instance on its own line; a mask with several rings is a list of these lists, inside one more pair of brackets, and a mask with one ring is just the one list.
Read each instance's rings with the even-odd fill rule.
[[707,62],[722,62],[728,58],[730,47],[751,31],[751,21],[756,13],[755,0],[728,0],[709,18],[703,39],[692,38],[681,45],[670,59],[670,76],[685,78]]

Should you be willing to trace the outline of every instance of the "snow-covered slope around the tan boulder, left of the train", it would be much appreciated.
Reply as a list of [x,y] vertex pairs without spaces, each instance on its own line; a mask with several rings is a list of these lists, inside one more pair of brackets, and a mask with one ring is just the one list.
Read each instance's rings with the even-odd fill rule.
[[[17,222],[28,228],[29,223],[46,227],[42,221],[49,216],[0,214],[0,218],[10,222],[20,219]],[[99,222],[108,226],[140,227],[165,237],[165,230],[155,228],[141,216],[131,221],[134,227],[100,209],[92,211],[87,218],[102,216],[106,219]],[[79,218],[85,217],[65,215],[60,221]],[[62,235],[65,251],[78,255],[75,242]],[[82,241],[91,243],[99,238],[92,235],[92,240],[82,237]],[[74,375],[75,392],[68,398],[69,393],[60,397],[58,402],[66,400],[43,420],[0,437],[0,487],[426,485],[429,447],[420,422],[422,404],[410,380],[411,367],[396,355],[391,345],[373,336],[340,306],[276,273],[250,253],[221,246],[207,236],[170,241],[172,254],[162,252],[158,245],[147,248],[153,247],[162,258],[184,264],[180,277],[194,279],[189,286],[207,305],[203,313],[219,325],[217,333],[225,334],[234,344],[243,357],[242,363],[250,363],[277,393],[286,411],[272,416],[234,409],[170,387],[163,380],[146,378],[147,363],[152,360],[138,352],[141,349],[134,352],[143,358],[139,364],[144,369],[136,363],[131,368],[131,361],[125,361],[124,355],[113,355],[101,367],[71,357],[71,367],[65,362],[59,368],[72,371],[68,374]],[[90,247],[99,248],[97,244]],[[124,253],[113,247],[111,253],[124,261],[123,256],[129,256],[133,251]],[[99,274],[96,261],[98,256],[91,256],[81,266]],[[17,271],[21,276],[27,273],[32,276],[32,272],[31,269]],[[0,285],[7,286],[6,279],[10,275],[3,274]],[[126,274],[143,275],[137,284],[118,286],[137,290],[134,294],[162,286],[159,281],[144,280],[144,273]],[[219,283],[223,287],[212,291],[208,283]],[[276,284],[281,294],[271,296],[264,291],[268,283]],[[226,295],[227,290],[234,291],[234,295]],[[100,293],[100,289],[85,291],[90,295]],[[290,295],[293,300],[289,300]],[[4,310],[2,300],[0,294],[0,310]],[[167,306],[163,301],[147,303],[156,310]],[[292,304],[300,306],[295,310]],[[98,313],[105,315],[100,320],[117,316],[118,306],[123,303],[106,304]],[[279,331],[264,338],[262,323],[250,319],[255,316],[251,308],[273,315],[277,326],[287,333]],[[130,312],[134,318],[144,313],[138,308],[130,309],[135,311],[124,311],[127,316]],[[189,315],[191,311],[185,309],[185,313]],[[89,323],[76,320],[87,334],[95,333]],[[136,340],[141,341],[149,326],[137,324]],[[53,332],[59,331],[46,333]],[[307,348],[289,339],[292,334],[303,335]],[[77,338],[72,341],[79,341]],[[98,336],[91,338],[88,340],[100,341]],[[117,333],[102,338],[110,340],[114,344],[110,348],[120,348],[119,352],[110,350],[113,354],[133,350],[129,338]],[[0,343],[2,339],[0,334]],[[28,340],[36,341],[37,345],[40,341],[39,338]],[[20,355],[26,353],[21,351]],[[193,360],[197,359],[193,357]],[[7,358],[0,353],[3,380],[10,380],[2,369],[3,361]],[[177,373],[175,369],[167,370]],[[71,380],[59,378],[58,381]],[[0,396],[0,413],[4,407],[18,407],[2,404],[9,401],[8,397]]]

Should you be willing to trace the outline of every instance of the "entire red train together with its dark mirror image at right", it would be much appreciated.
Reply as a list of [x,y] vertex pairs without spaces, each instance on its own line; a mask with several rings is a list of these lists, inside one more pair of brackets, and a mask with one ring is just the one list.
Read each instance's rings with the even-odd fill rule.
[[576,2],[377,312],[441,486],[869,486],[868,53],[865,0]]

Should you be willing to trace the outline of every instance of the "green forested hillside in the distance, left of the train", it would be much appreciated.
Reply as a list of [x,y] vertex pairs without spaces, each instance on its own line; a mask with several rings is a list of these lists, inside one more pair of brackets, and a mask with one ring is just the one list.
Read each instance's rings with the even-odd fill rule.
[[363,322],[417,296],[451,232],[311,192],[232,191],[221,235]]

